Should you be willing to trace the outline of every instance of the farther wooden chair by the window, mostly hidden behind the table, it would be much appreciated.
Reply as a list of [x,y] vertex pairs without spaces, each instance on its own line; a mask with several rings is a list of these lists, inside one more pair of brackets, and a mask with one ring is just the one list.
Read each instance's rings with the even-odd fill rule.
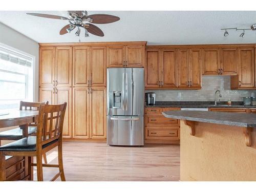
[[[48,104],[48,101],[46,102],[25,102],[20,101],[19,104],[19,110],[32,110],[32,111],[38,111],[39,106],[41,104]],[[22,139],[24,136],[24,129],[21,129],[21,127],[18,127],[16,129],[0,132],[0,146],[2,140],[19,140]],[[36,134],[36,122],[33,124],[29,124],[28,127],[28,135],[35,135]],[[47,164],[47,157],[46,154],[42,155],[44,157],[44,162]]]

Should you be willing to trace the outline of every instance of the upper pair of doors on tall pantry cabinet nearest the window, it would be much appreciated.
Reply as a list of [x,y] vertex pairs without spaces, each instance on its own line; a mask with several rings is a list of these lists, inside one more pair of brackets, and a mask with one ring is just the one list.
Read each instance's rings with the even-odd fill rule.
[[72,47],[40,47],[39,86],[72,86]]

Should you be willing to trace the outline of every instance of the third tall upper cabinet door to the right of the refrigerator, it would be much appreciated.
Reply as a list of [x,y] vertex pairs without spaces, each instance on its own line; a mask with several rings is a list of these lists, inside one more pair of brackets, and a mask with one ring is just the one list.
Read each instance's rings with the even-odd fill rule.
[[178,87],[187,88],[188,80],[188,50],[178,50]]

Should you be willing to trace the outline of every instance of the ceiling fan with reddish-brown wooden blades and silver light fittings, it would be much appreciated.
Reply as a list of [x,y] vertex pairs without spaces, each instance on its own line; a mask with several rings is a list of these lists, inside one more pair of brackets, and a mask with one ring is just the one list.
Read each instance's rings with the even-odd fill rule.
[[93,24],[109,24],[113,22],[117,22],[120,18],[114,15],[107,14],[93,14],[88,15],[87,11],[68,11],[68,17],[58,16],[58,15],[49,15],[49,14],[41,14],[41,13],[27,13],[28,15],[38,16],[38,17],[46,17],[53,19],[62,19],[68,20],[69,24],[64,26],[59,34],[63,35],[66,33],[70,33],[77,27],[77,31],[75,33],[76,36],[80,36],[81,28],[85,30],[85,37],[89,36],[89,33],[104,36],[104,33],[100,28]]

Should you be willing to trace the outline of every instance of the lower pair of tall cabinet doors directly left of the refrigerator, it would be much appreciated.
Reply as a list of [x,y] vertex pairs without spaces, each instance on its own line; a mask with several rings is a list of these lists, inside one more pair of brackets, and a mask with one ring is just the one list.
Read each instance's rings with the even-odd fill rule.
[[106,138],[106,88],[74,88],[73,138]]

